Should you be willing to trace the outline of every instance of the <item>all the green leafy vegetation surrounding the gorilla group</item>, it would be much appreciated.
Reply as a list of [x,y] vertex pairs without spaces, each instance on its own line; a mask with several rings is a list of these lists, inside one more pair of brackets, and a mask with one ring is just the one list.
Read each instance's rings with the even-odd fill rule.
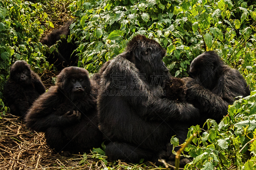
[[[63,3],[65,11],[75,18],[68,41],[76,41],[79,67],[90,73],[123,52],[132,36],[144,34],[166,49],[164,62],[173,76],[187,76],[189,64],[197,55],[215,50],[255,90],[256,2],[253,0],[58,0],[58,3]],[[52,19],[62,18],[56,10],[58,3],[52,6],[39,0],[0,2],[3,114],[7,111],[2,101],[3,85],[15,60],[27,60],[33,70],[41,73],[52,69],[44,56],[49,49],[39,39],[44,31],[53,29]],[[195,159],[185,169],[254,169],[255,100],[256,91],[237,100],[220,124],[208,120],[207,130],[192,126],[188,137],[193,133],[197,136],[186,151],[187,156]],[[178,144],[175,137],[171,142]],[[99,158],[105,161],[105,157]]]

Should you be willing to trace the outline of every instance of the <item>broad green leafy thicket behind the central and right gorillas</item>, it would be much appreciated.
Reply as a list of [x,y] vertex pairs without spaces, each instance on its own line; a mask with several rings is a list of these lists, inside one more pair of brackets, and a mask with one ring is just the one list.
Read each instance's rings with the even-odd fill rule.
[[[205,50],[217,53],[255,84],[255,3],[226,0],[120,0],[71,4],[77,22],[79,66],[97,72],[120,54],[135,34],[159,42],[175,77],[187,76],[190,62]],[[241,17],[242,16],[242,17]]]

